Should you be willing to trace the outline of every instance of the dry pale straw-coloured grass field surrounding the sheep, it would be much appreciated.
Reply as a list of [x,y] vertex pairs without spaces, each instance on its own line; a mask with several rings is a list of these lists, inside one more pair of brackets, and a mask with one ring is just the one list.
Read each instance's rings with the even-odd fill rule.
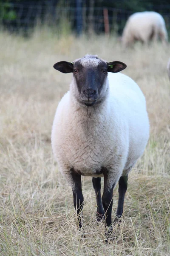
[[[51,126],[71,74],[57,61],[98,54],[127,64],[147,100],[150,140],[130,173],[123,221],[105,244],[90,177],[82,178],[86,238],[75,225],[72,191],[51,151]],[[0,32],[0,256],[170,255],[170,46],[122,49],[115,38]],[[118,200],[113,192],[113,218]]]

